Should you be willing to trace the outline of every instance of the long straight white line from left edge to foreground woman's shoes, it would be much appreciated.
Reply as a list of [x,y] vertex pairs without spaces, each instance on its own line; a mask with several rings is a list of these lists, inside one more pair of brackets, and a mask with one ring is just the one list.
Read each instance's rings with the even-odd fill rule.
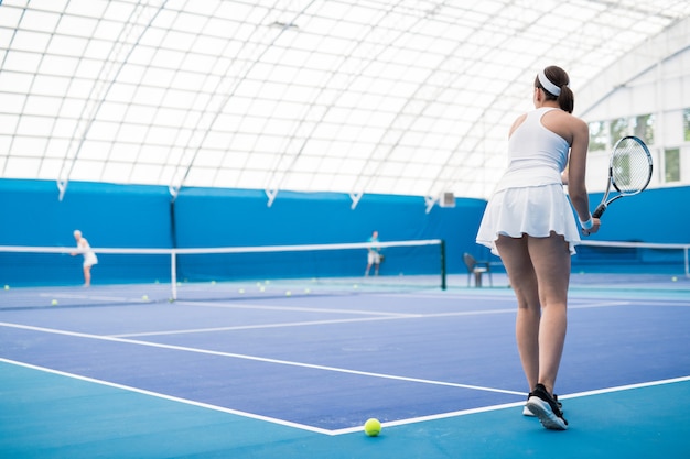
[[386,380],[396,380],[396,381],[405,381],[405,382],[413,382],[413,383],[431,384],[431,385],[442,385],[442,386],[449,386],[449,387],[472,389],[475,391],[497,392],[502,394],[527,395],[527,393],[525,392],[509,391],[509,390],[504,390],[504,389],[484,387],[479,385],[451,383],[451,382],[445,382],[445,381],[424,380],[424,379],[419,379],[419,378],[397,376],[395,374],[349,370],[349,369],[337,368],[337,367],[317,365],[313,363],[294,362],[290,360],[269,359],[265,357],[247,356],[247,354],[234,353],[234,352],[222,352],[222,351],[212,351],[208,349],[190,348],[186,346],[165,345],[165,343],[159,343],[159,342],[139,341],[139,340],[133,340],[133,339],[116,338],[116,337],[109,337],[109,336],[82,334],[77,331],[57,330],[57,329],[52,329],[52,328],[34,327],[34,326],[21,325],[21,324],[0,323],[0,327],[19,328],[22,330],[41,331],[41,332],[46,332],[46,334],[64,335],[64,336],[69,336],[69,337],[87,338],[87,339],[95,339],[95,340],[101,340],[101,341],[123,342],[128,345],[138,345],[138,346],[145,346],[145,347],[159,348],[159,349],[171,349],[171,350],[179,350],[179,351],[185,351],[185,352],[202,353],[202,354],[207,354],[207,356],[229,357],[234,359],[252,360],[252,361],[258,361],[258,362],[274,363],[274,364],[281,364],[281,365],[289,365],[289,367],[300,367],[300,368],[308,368],[312,370],[332,371],[336,373],[357,374],[362,376],[380,378],[380,379],[386,379]]

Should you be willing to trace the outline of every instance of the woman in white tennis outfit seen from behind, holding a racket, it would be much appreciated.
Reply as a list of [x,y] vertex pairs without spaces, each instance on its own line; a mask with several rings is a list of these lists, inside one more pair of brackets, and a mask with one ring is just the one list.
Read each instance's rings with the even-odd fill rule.
[[509,132],[509,165],[490,197],[477,242],[499,255],[518,303],[516,338],[530,394],[524,409],[549,429],[568,422],[553,395],[567,328],[570,256],[580,236],[596,232],[585,187],[589,128],[573,117],[570,78],[560,67],[539,72],[535,110]]

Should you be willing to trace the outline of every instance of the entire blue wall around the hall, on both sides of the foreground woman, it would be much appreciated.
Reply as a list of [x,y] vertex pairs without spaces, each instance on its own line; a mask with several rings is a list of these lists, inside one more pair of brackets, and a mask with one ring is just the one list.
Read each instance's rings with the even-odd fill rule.
[[[601,194],[591,196],[592,207]],[[690,187],[650,189],[614,203],[594,240],[678,242],[690,240]],[[73,247],[80,229],[94,247],[173,247],[171,196],[166,187],[73,182],[58,200],[54,182],[0,179],[0,244]],[[456,199],[434,206],[421,197],[364,195],[355,209],[346,194],[280,192],[272,205],[261,190],[184,188],[175,201],[179,247],[282,245],[364,242],[373,230],[382,241],[444,239],[448,270],[464,273],[462,253],[487,258],[474,242],[486,203]],[[152,282],[169,278],[169,260],[101,255],[94,282]],[[594,261],[596,262],[596,261]],[[82,282],[80,258],[35,255],[19,262],[0,253],[0,284]],[[388,263],[388,261],[387,261]],[[573,265],[592,264],[575,256]],[[366,255],[355,262],[362,272]],[[392,267],[391,264],[388,266]],[[576,267],[575,267],[576,269]]]

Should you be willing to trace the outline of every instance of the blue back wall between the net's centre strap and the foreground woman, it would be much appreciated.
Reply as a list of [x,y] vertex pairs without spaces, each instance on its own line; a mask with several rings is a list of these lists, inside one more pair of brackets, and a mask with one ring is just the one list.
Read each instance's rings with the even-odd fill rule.
[[[462,251],[476,250],[474,228],[485,207],[483,200],[457,199],[455,208],[435,206],[427,214],[422,197],[365,195],[352,209],[352,199],[345,194],[291,192],[279,193],[270,207],[268,204],[267,195],[260,190],[183,189],[175,201],[179,247],[364,242],[373,230],[377,230],[381,241],[444,239],[449,251],[448,270],[456,272],[461,270]],[[290,260],[299,263],[300,259],[281,255],[276,260],[276,269],[289,271]],[[256,275],[250,262],[238,263],[241,266],[227,266],[228,275],[241,276],[242,270],[249,277]],[[324,275],[359,275],[366,265],[366,252],[362,251],[359,259],[342,260],[339,267],[332,260],[336,272],[327,271],[327,261],[308,263],[323,264],[320,273]],[[412,267],[419,272],[428,271],[428,265],[421,263],[433,263],[431,269],[440,270],[438,258],[422,254],[419,263],[417,266],[409,263],[396,266],[395,259],[389,259],[386,266],[389,273],[410,273]],[[299,266],[292,267],[295,273],[301,272]],[[180,271],[181,278],[185,278],[184,259]]]

